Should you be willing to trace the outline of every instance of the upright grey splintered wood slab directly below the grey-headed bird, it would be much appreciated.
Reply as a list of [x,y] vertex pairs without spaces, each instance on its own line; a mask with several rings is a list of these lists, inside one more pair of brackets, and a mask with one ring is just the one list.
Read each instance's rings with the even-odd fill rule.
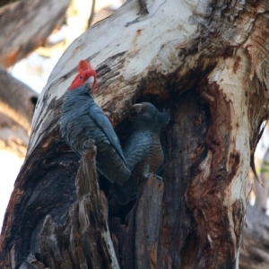
[[[163,182],[151,175],[143,188],[143,195],[137,201],[137,206],[134,206],[134,217],[131,217],[134,221],[128,225],[127,230],[134,230],[134,238],[132,242],[126,241],[126,249],[129,247],[132,252],[124,253],[124,256],[128,257],[124,260],[125,268],[156,268],[158,265],[163,186]],[[133,244],[134,248],[130,249]]]

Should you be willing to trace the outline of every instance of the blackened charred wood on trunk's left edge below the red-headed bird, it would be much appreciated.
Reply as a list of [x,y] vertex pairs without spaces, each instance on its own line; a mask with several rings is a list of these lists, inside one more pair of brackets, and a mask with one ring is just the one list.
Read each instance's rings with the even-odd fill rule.
[[[40,149],[32,155],[15,181],[1,233],[0,267],[19,266],[30,253],[39,253],[39,232],[46,216],[63,225],[77,199],[74,178],[78,157],[60,140],[58,131],[50,139],[48,154],[43,155]],[[14,204],[13,214],[9,214]]]

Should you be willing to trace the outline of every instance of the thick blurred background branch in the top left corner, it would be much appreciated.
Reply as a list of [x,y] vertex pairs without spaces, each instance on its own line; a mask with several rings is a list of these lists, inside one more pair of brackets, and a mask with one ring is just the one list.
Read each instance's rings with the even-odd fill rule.
[[60,26],[70,0],[21,0],[0,8],[0,65],[14,65],[46,43]]

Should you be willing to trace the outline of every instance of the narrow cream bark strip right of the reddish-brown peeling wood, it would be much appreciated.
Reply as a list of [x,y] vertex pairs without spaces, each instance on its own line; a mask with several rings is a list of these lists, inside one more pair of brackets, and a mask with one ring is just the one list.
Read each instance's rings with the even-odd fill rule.
[[[237,65],[236,61],[238,60],[239,69],[234,72],[233,66]],[[247,206],[247,174],[250,163],[249,137],[252,133],[252,126],[250,126],[251,120],[247,113],[250,100],[246,97],[245,92],[247,91],[252,95],[258,91],[258,89],[253,88],[252,81],[247,73],[248,66],[249,60],[247,59],[247,56],[241,49],[239,49],[235,56],[228,58],[220,65],[217,65],[213,70],[213,73],[209,76],[211,82],[217,82],[220,85],[221,95],[230,104],[230,149],[226,161],[226,169],[228,169],[228,172],[231,172],[230,169],[234,169],[234,156],[240,156],[239,164],[237,164],[239,169],[235,171],[230,186],[225,190],[223,201],[229,215],[230,234],[232,235],[233,241],[237,242],[234,246],[237,268],[239,265],[238,246],[241,240],[241,235],[239,235],[238,232],[239,226],[240,230],[242,230],[244,221],[235,217],[234,207],[238,207],[237,210],[240,210],[240,213],[243,215],[245,214]],[[210,166],[210,164],[207,164],[207,166]],[[240,238],[238,238],[239,236]]]

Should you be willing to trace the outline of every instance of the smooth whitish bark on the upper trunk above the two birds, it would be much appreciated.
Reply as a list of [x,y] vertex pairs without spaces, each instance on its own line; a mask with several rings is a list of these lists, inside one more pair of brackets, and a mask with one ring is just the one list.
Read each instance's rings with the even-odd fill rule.
[[[187,39],[192,39],[195,35],[197,27],[188,22],[195,4],[196,1],[148,1],[150,14],[137,16],[139,4],[130,1],[76,39],[57,63],[40,94],[33,119],[29,153],[42,139],[39,134],[47,128],[54,113],[47,110],[46,104],[64,95],[74,79],[75,68],[80,60],[90,59],[91,65],[97,69],[105,68],[104,65],[108,65],[108,68],[113,66],[109,72],[100,70],[100,90],[96,101],[109,111],[113,89],[118,88],[120,98],[114,106],[121,113],[126,113],[126,100],[134,99],[139,83],[147,80],[149,72],[166,75],[182,65],[177,54],[186,46]],[[195,60],[190,63],[189,68],[194,65]],[[46,103],[42,102],[45,98]],[[125,116],[121,114],[117,117],[121,119]],[[115,115],[112,118],[115,119]]]

